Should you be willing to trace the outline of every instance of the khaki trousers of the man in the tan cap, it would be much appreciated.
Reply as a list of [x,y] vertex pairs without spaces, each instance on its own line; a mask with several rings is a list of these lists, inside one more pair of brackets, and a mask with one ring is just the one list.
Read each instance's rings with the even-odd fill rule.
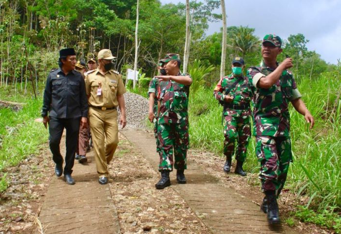
[[109,177],[108,164],[118,144],[117,110],[89,107],[89,120],[98,176]]

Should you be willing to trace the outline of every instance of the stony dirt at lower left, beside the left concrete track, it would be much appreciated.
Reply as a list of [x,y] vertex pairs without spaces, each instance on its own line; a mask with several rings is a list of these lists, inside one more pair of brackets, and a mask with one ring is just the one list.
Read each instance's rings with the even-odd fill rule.
[[0,234],[33,233],[38,226],[40,207],[54,174],[50,155],[45,144],[38,155],[5,170],[9,187],[0,193]]

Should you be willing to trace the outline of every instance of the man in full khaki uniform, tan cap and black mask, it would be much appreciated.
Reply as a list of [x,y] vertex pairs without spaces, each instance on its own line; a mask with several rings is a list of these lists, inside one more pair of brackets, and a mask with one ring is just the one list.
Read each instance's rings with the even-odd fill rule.
[[100,184],[108,182],[108,164],[118,144],[117,106],[121,111],[121,127],[127,124],[123,96],[126,89],[119,72],[112,70],[114,58],[108,49],[99,51],[98,68],[88,72],[85,77],[91,136]]

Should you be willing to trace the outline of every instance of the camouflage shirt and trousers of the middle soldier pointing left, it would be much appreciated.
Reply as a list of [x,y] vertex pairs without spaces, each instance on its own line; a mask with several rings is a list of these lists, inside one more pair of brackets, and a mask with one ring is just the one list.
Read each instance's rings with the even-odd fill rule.
[[[187,75],[181,74],[178,75]],[[189,148],[188,98],[189,86],[174,81],[160,83],[160,116],[158,138],[161,150],[159,171],[187,169],[186,156]],[[174,160],[173,162],[173,150]]]

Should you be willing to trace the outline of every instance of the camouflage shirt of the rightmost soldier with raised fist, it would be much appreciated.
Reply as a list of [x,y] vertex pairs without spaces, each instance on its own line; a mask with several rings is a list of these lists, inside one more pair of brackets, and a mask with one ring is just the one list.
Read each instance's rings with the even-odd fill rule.
[[274,69],[262,62],[259,67],[250,67],[246,73],[254,92],[253,134],[287,137],[290,131],[288,104],[289,101],[301,97],[301,94],[297,90],[292,73],[288,70],[282,73],[280,79],[271,88],[257,88],[260,78],[273,71]]

